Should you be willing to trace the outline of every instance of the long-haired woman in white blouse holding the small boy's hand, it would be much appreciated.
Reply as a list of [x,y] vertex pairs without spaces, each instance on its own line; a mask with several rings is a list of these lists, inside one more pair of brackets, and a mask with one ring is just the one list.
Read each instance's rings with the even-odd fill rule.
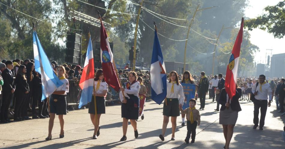
[[162,134],[159,135],[161,141],[164,141],[164,134],[166,131],[169,117],[171,116],[172,136],[171,140],[175,140],[176,119],[180,115],[179,106],[183,105],[184,93],[183,87],[178,81],[178,74],[176,71],[171,71],[169,74],[169,81],[167,82],[167,95],[163,104],[163,125]]

